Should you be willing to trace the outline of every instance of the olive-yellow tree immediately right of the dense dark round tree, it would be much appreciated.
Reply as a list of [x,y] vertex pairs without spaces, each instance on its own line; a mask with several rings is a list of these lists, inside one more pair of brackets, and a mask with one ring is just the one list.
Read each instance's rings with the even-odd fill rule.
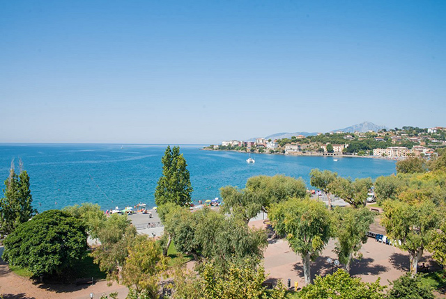
[[119,274],[128,257],[128,248],[136,235],[137,230],[130,225],[125,215],[112,214],[98,229],[101,245],[91,255],[100,270],[107,273],[107,280],[119,281]]

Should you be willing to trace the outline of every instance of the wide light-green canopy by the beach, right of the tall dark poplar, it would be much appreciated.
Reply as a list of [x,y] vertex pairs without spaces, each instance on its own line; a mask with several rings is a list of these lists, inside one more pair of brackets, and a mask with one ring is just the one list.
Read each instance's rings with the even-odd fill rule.
[[268,212],[271,204],[282,202],[292,197],[305,197],[307,188],[302,179],[275,175],[250,177],[244,189],[226,186],[220,188],[224,201],[222,209],[233,213],[245,221],[255,217],[260,211]]

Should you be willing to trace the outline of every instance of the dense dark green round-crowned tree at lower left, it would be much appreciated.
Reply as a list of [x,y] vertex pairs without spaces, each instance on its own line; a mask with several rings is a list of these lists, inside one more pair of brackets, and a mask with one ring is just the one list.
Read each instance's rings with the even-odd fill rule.
[[45,211],[6,237],[3,259],[36,276],[62,275],[84,257],[86,237],[80,220],[63,211]]

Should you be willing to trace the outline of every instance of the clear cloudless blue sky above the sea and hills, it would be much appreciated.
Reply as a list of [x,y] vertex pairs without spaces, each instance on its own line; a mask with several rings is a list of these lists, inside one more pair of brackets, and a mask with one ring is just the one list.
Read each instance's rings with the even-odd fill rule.
[[1,1],[0,142],[446,126],[446,1]]

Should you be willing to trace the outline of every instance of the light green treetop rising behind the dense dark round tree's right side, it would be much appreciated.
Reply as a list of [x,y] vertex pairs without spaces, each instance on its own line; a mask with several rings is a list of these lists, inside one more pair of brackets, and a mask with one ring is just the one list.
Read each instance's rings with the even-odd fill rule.
[[82,220],[89,235],[95,239],[98,238],[98,232],[102,228],[106,216],[104,212],[100,209],[99,204],[92,204],[90,202],[84,202],[80,206],[75,204],[71,207],[66,207],[63,209],[71,216]]

